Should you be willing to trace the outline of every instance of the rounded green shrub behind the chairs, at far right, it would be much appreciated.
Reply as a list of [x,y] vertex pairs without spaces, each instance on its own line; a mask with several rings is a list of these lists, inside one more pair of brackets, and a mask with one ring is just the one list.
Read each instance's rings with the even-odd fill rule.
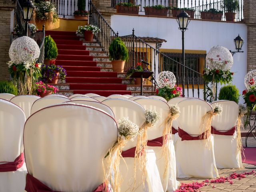
[[239,90],[235,85],[227,85],[220,88],[219,100],[230,100],[238,104],[239,101]]

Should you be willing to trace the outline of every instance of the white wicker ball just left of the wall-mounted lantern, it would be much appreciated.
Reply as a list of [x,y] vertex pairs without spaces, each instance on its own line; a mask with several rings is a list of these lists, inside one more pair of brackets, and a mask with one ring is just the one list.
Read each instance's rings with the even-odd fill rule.
[[228,71],[233,65],[233,56],[227,48],[214,46],[206,55],[206,64],[211,70]]

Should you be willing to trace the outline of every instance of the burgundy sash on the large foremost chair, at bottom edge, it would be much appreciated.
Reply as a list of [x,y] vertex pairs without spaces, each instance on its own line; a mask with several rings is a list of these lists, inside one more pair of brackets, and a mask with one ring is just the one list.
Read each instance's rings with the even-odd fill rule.
[[[30,174],[26,176],[26,188],[27,192],[57,192],[40,182],[38,179],[34,178]],[[59,191],[60,192],[60,191]],[[100,184],[93,192],[110,192],[106,184]]]

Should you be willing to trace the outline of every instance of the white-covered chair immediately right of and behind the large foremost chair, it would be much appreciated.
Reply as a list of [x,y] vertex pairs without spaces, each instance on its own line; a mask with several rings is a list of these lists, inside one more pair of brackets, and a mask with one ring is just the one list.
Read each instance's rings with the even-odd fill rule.
[[[127,99],[107,99],[102,102],[103,104],[109,106],[115,114],[116,120],[128,117],[130,121],[142,126],[145,122],[145,110],[144,108],[133,101]],[[123,151],[136,146],[137,138],[134,141],[128,141]],[[147,150],[145,152],[147,158],[146,166],[146,188],[143,189],[142,185],[142,173],[140,169],[136,168],[136,186],[133,191],[135,192],[163,192],[162,183],[160,180],[159,172],[156,166],[156,156],[154,150]],[[134,158],[125,157],[126,164],[120,161],[120,174],[122,175],[122,185],[121,191],[132,191],[134,187]],[[127,165],[127,166],[126,166]],[[128,170],[127,170],[128,167]]]

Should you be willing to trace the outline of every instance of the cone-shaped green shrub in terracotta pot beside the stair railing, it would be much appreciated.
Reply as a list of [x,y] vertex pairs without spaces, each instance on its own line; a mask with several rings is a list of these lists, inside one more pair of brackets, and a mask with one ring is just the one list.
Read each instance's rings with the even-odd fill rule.
[[119,37],[115,38],[109,46],[109,59],[123,61],[128,59],[128,50]]

